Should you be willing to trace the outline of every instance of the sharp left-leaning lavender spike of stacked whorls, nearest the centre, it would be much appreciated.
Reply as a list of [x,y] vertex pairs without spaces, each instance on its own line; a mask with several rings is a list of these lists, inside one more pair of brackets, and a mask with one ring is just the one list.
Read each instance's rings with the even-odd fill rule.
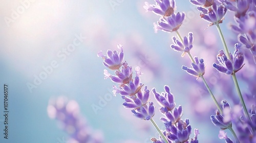
[[[118,87],[113,85],[113,89],[114,89],[113,93],[114,93],[114,96],[116,96],[117,93],[120,93],[122,95],[122,99],[124,100],[123,106],[125,108],[132,108],[132,113],[138,118],[141,118],[143,120],[151,120],[151,118],[155,114],[155,106],[153,105],[152,102],[149,102],[150,90],[148,90],[147,87],[145,86],[144,91],[141,91],[143,84],[140,83],[140,78],[139,78],[142,75],[140,71],[140,67],[135,68],[136,77],[133,79],[132,67],[129,66],[126,61],[122,62],[123,60],[122,46],[119,44],[118,48],[121,51],[119,56],[115,56],[116,57],[115,59],[118,59],[116,60],[118,62],[113,62],[113,63],[116,63],[115,65],[118,65],[118,66],[114,66],[115,68],[112,68],[112,69],[116,69],[115,74],[117,76],[112,76],[111,74],[108,73],[108,70],[105,69],[104,79],[111,78],[111,80],[114,83],[119,84]],[[100,54],[98,55],[100,57],[103,57],[105,62],[106,57],[102,56],[103,54],[101,51],[99,53]],[[111,50],[108,50],[107,52],[109,57],[111,57],[112,53],[117,53],[117,52],[115,51],[112,52]],[[104,64],[104,65],[106,67],[110,67],[110,64]]]

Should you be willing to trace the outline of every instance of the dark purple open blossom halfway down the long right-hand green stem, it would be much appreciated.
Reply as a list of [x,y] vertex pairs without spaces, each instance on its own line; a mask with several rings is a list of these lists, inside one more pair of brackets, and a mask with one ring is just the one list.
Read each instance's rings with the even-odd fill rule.
[[243,67],[243,61],[244,61],[244,56],[243,53],[240,52],[239,50],[239,45],[235,45],[235,51],[234,54],[230,55],[230,60],[227,58],[227,56],[224,54],[224,51],[221,50],[219,51],[219,54],[217,55],[217,59],[219,61],[219,64],[214,63],[212,66],[216,68],[218,71],[221,73],[227,74],[227,75],[232,75],[233,73],[237,73],[242,67]]

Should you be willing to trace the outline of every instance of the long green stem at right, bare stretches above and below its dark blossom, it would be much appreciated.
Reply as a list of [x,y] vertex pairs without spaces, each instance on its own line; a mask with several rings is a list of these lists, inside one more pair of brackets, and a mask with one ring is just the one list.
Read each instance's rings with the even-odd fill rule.
[[[223,47],[224,47],[224,50],[225,50],[225,54],[226,54],[228,60],[231,61],[231,58],[230,58],[230,55],[229,55],[229,51],[228,51],[228,48],[227,48],[227,44],[226,44],[226,42],[225,42],[225,38],[224,38],[224,36],[223,36],[223,34],[222,34],[221,28],[220,28],[220,26],[219,26],[218,24],[216,25],[216,27],[217,27],[217,30],[218,30],[218,32],[219,32],[219,34],[220,34],[221,41],[222,41],[222,43],[223,43]],[[250,122],[251,122],[251,117],[250,117],[250,115],[249,115],[249,113],[248,113],[248,110],[247,110],[247,108],[246,108],[246,106],[245,106],[244,99],[243,99],[243,96],[242,96],[240,87],[239,87],[239,85],[238,85],[238,80],[237,80],[236,74],[235,74],[234,72],[233,72],[233,74],[232,74],[232,78],[233,78],[233,81],[234,81],[234,85],[236,86],[236,89],[237,89],[237,92],[238,92],[238,96],[239,96],[240,102],[241,102],[241,104],[242,104],[242,106],[243,106],[245,115],[248,117],[248,119],[249,119]]]

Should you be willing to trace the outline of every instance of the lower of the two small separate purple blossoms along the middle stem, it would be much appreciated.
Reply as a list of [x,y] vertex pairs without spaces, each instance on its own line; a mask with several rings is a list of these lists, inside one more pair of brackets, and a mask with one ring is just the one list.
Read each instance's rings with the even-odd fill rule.
[[187,66],[182,65],[182,69],[189,75],[199,78],[200,75],[204,75],[205,73],[204,59],[198,59],[198,57],[194,57],[194,59],[196,63],[191,63],[193,68],[188,68]]

